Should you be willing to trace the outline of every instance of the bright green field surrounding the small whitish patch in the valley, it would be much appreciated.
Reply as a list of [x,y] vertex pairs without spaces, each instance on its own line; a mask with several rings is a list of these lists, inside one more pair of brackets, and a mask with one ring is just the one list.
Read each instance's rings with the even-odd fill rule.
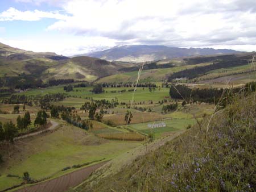
[[[147,125],[153,123],[166,123],[166,127],[150,128]],[[155,137],[161,137],[165,132],[175,132],[180,130],[185,130],[189,124],[193,125],[196,123],[195,119],[172,119],[172,120],[162,120],[159,122],[150,122],[150,123],[139,123],[139,124],[130,124],[127,126],[132,130],[140,131],[143,133],[155,133]]]

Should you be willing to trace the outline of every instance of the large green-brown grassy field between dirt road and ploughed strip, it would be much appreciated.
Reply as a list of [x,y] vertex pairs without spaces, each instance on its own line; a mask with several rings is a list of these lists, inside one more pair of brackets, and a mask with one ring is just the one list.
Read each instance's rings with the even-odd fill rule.
[[[113,158],[141,145],[137,141],[105,140],[80,128],[66,126],[40,136],[16,141],[0,167],[0,190],[22,182],[22,174],[34,180],[63,174],[61,169]],[[2,153],[2,152],[1,152]],[[4,154],[4,153],[2,153]],[[7,177],[8,174],[18,177]]]

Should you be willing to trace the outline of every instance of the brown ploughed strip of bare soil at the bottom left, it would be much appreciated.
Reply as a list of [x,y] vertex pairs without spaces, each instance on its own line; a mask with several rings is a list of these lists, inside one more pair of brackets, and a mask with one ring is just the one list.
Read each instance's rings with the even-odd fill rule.
[[89,177],[94,170],[100,168],[102,165],[106,164],[106,162],[108,161],[79,169],[53,180],[44,181],[29,187],[23,187],[22,189],[16,190],[16,192],[64,192],[71,187],[79,185]]

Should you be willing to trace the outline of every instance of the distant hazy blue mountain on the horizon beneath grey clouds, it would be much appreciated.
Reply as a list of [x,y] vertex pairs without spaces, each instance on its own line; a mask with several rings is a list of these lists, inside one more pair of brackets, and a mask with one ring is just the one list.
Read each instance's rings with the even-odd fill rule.
[[223,55],[238,53],[231,49],[213,48],[177,48],[162,45],[126,45],[114,47],[105,51],[85,54],[85,56],[97,57],[108,61],[143,62],[176,57],[188,57],[199,55]]

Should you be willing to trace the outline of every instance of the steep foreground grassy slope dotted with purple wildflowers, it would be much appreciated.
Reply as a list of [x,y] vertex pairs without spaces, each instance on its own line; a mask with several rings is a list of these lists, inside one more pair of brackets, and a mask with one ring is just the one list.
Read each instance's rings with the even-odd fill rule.
[[[76,191],[255,191],[255,95]],[[102,172],[101,174],[104,174]],[[93,177],[93,176],[92,176]]]

